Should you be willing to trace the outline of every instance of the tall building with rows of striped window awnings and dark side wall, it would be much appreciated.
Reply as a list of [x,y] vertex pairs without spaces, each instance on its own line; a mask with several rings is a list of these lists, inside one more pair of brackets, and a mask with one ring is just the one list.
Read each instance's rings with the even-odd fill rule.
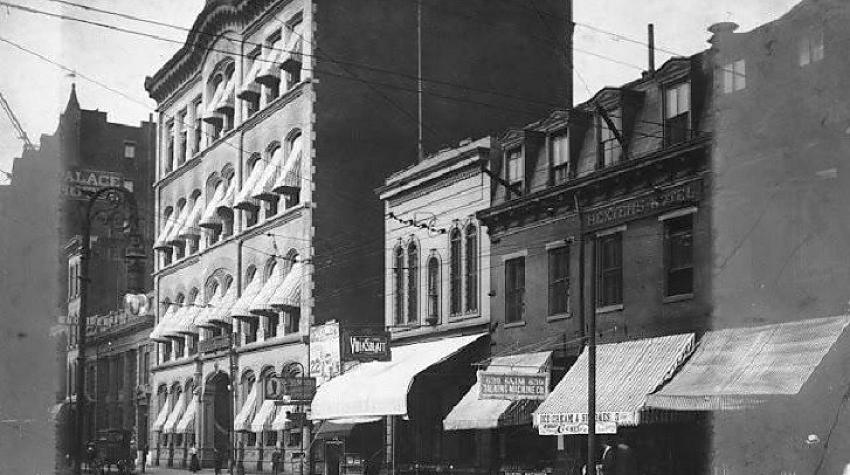
[[[512,2],[424,2],[424,149],[530,119],[515,102],[564,100],[558,52],[527,35],[564,2],[540,3],[544,20]],[[416,5],[208,1],[146,80],[160,124],[154,463],[185,466],[195,446],[205,466],[218,453],[268,471],[279,446],[285,471],[308,470],[309,426],[263,386],[308,370],[311,325],[383,323],[373,190],[416,156]]]

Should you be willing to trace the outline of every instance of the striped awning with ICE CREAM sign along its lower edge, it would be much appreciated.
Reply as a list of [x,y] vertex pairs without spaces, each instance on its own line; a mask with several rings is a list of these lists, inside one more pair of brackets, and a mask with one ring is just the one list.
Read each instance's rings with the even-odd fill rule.
[[[694,345],[694,334],[624,341],[596,349],[597,420],[640,423],[647,396],[668,381]],[[541,434],[587,422],[587,349],[534,413]]]

